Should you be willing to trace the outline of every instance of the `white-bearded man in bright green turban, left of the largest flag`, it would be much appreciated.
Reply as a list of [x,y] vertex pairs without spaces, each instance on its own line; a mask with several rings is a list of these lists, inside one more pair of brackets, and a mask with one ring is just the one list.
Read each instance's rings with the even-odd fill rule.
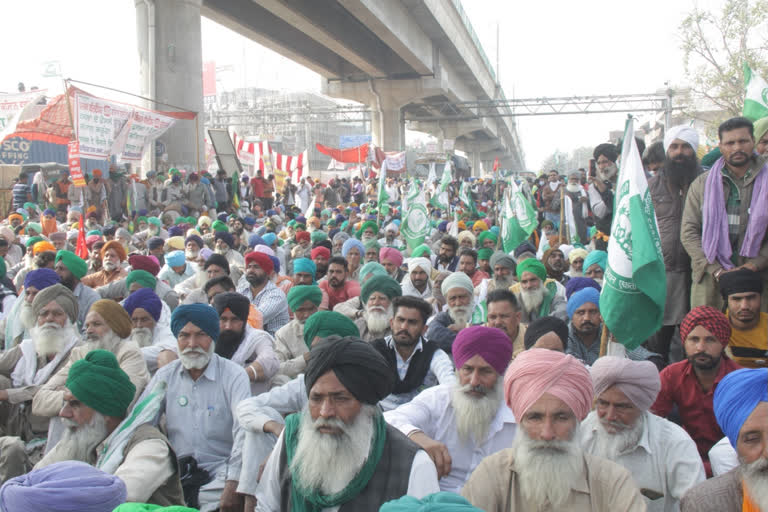
[[535,258],[527,258],[517,265],[517,279],[510,290],[517,296],[522,312],[521,322],[554,316],[566,321],[565,290],[554,279],[547,279],[547,269]]

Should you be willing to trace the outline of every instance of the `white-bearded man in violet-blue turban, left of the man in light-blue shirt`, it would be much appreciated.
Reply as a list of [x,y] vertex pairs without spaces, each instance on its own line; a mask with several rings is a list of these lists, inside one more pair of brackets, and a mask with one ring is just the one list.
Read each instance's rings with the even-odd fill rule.
[[131,341],[141,349],[141,355],[151,375],[158,368],[178,358],[176,338],[167,324],[160,324],[163,302],[151,288],[139,288],[123,301],[131,316]]

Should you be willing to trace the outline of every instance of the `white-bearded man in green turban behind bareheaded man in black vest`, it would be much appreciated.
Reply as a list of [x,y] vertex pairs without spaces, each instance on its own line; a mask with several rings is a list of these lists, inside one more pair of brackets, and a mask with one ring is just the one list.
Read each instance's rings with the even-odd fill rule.
[[390,276],[373,276],[363,284],[360,300],[365,305],[363,316],[355,320],[360,338],[373,341],[392,334],[392,299],[402,295],[400,284]]

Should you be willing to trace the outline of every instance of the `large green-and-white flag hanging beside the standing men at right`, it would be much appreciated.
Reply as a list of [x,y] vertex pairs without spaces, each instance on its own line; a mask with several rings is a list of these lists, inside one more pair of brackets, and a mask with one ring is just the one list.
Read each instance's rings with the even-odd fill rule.
[[632,120],[627,121],[600,313],[616,341],[632,350],[661,327],[667,277],[656,213]]

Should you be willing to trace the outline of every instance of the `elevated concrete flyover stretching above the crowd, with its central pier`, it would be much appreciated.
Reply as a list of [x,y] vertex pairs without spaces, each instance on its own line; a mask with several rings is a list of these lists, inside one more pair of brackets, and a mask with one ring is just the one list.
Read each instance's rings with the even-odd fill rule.
[[[441,119],[445,104],[503,98],[460,0],[136,0],[140,54],[146,32],[142,25],[149,21],[149,15],[142,13],[149,12],[149,4],[159,13],[166,2],[178,5],[185,14],[198,9],[201,15],[316,71],[325,94],[369,106],[374,142],[385,150],[404,147],[408,123],[409,128],[438,139],[454,139],[457,149],[470,154],[475,169],[480,162],[488,168],[496,157],[505,167],[525,168],[514,118]],[[174,20],[157,15],[154,22],[158,34],[188,29],[169,27]],[[199,22],[192,29],[187,36],[199,40]],[[155,70],[143,76],[149,89],[152,77],[147,75],[154,74],[159,90],[164,87],[158,81],[161,68],[167,62],[158,60],[168,52],[157,42],[155,48],[162,51],[154,63],[149,56],[142,57],[142,70]],[[190,48],[199,60],[199,43]],[[198,83],[200,69],[195,68]],[[189,78],[194,80],[191,74]],[[452,113],[472,114],[461,106]],[[409,118],[419,121],[409,122]]]

